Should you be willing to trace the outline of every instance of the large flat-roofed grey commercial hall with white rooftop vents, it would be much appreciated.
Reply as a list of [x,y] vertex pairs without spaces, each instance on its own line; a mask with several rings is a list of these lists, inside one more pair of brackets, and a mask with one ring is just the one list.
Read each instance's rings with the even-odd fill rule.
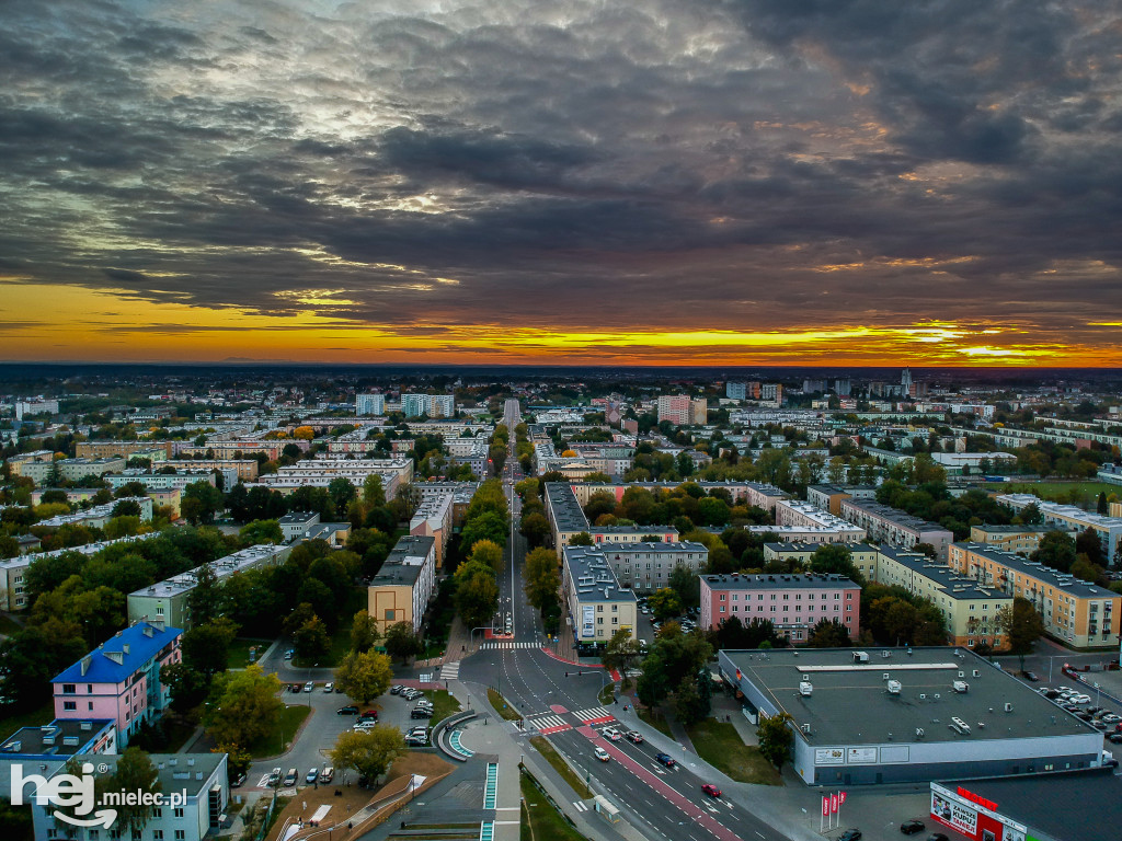
[[1103,734],[965,648],[724,650],[762,718],[787,713],[810,785],[1008,777],[1100,767]]

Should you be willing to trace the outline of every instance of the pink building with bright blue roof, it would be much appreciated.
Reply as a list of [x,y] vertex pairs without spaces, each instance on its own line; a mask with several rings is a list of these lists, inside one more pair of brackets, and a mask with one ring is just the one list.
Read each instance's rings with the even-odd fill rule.
[[55,718],[110,719],[118,748],[126,747],[142,722],[164,714],[171,697],[159,669],[183,659],[182,637],[157,621],[118,631],[52,681]]

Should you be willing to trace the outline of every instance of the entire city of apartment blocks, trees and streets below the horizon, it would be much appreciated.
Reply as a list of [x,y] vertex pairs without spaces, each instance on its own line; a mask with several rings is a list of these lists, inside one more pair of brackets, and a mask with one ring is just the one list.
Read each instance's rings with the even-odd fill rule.
[[1118,383],[877,376],[8,372],[6,837],[1118,838]]

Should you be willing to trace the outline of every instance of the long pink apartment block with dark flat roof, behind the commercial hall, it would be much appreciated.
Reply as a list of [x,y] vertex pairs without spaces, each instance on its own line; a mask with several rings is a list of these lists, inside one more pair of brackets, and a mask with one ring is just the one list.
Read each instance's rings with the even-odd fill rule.
[[769,620],[781,636],[804,643],[822,619],[836,619],[857,639],[861,588],[844,575],[702,575],[702,628],[736,617]]

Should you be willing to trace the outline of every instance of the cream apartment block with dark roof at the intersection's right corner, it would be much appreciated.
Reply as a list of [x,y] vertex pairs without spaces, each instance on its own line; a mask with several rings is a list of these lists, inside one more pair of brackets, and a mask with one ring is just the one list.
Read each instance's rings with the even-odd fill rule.
[[619,585],[604,547],[565,547],[561,586],[565,620],[578,645],[604,645],[620,629],[636,638],[638,601],[632,590]]

